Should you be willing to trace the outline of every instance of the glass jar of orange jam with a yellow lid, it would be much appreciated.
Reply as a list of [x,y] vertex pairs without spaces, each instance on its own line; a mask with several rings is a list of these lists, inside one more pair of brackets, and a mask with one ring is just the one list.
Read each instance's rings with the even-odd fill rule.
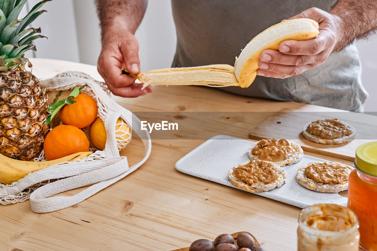
[[355,165],[348,179],[348,208],[359,219],[360,247],[377,251],[377,141],[356,149]]

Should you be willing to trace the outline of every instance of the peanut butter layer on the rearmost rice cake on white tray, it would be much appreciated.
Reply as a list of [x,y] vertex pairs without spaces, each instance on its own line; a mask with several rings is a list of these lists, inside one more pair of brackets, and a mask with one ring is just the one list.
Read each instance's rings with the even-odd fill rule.
[[287,139],[262,139],[251,150],[251,153],[264,161],[282,161],[293,156],[295,152],[293,142]]

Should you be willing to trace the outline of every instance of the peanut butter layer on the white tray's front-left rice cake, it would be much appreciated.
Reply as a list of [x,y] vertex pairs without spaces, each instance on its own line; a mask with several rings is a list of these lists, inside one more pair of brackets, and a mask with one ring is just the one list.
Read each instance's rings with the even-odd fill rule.
[[279,178],[278,170],[274,167],[273,163],[254,160],[236,167],[233,170],[233,175],[238,181],[242,181],[250,186],[254,182],[269,184],[276,182]]

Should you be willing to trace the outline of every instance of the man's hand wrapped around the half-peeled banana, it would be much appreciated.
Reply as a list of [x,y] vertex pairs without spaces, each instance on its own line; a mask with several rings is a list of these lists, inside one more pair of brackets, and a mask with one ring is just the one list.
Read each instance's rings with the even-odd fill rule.
[[319,66],[327,60],[331,52],[339,50],[336,46],[342,33],[342,20],[338,16],[311,8],[289,19],[294,18],[310,18],[317,21],[318,36],[304,41],[284,41],[280,43],[279,51],[262,51],[257,75],[273,78],[299,75]]

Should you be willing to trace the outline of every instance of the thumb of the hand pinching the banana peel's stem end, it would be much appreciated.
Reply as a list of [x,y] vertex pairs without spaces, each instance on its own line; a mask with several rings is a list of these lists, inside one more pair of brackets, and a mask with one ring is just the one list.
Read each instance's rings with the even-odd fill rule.
[[120,48],[127,71],[132,74],[140,72],[139,43],[135,37],[129,38]]

